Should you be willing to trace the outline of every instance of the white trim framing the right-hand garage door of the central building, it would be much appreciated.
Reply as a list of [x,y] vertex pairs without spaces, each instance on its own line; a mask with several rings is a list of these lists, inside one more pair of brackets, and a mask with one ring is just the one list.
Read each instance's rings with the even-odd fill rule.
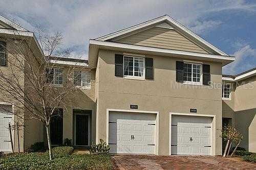
[[171,147],[170,147],[171,144],[172,144],[172,115],[212,117],[212,122],[211,122],[211,156],[216,155],[216,115],[197,114],[197,113],[176,113],[176,112],[169,112],[169,155],[172,155]]

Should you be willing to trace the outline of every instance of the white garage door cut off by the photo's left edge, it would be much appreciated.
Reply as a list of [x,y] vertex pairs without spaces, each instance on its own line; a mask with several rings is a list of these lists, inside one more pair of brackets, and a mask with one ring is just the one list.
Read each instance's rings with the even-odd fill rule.
[[8,125],[13,123],[13,115],[0,111],[0,151],[11,152],[10,133]]

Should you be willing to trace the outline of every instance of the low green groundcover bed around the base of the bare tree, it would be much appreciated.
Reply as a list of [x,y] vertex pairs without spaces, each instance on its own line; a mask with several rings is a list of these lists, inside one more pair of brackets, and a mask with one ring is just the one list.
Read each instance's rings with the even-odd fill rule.
[[78,155],[72,152],[72,147],[56,147],[52,161],[47,152],[8,154],[0,158],[0,169],[112,169],[109,155]]

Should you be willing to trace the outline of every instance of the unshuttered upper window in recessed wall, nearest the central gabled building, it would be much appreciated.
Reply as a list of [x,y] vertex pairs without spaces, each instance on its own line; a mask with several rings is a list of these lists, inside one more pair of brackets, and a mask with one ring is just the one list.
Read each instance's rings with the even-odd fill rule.
[[74,85],[91,89],[91,72],[74,70]]

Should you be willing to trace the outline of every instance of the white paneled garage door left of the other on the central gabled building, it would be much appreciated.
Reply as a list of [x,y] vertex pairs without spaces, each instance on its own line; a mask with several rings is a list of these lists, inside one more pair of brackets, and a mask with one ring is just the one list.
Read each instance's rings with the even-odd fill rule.
[[155,154],[155,124],[156,114],[110,112],[110,152]]

